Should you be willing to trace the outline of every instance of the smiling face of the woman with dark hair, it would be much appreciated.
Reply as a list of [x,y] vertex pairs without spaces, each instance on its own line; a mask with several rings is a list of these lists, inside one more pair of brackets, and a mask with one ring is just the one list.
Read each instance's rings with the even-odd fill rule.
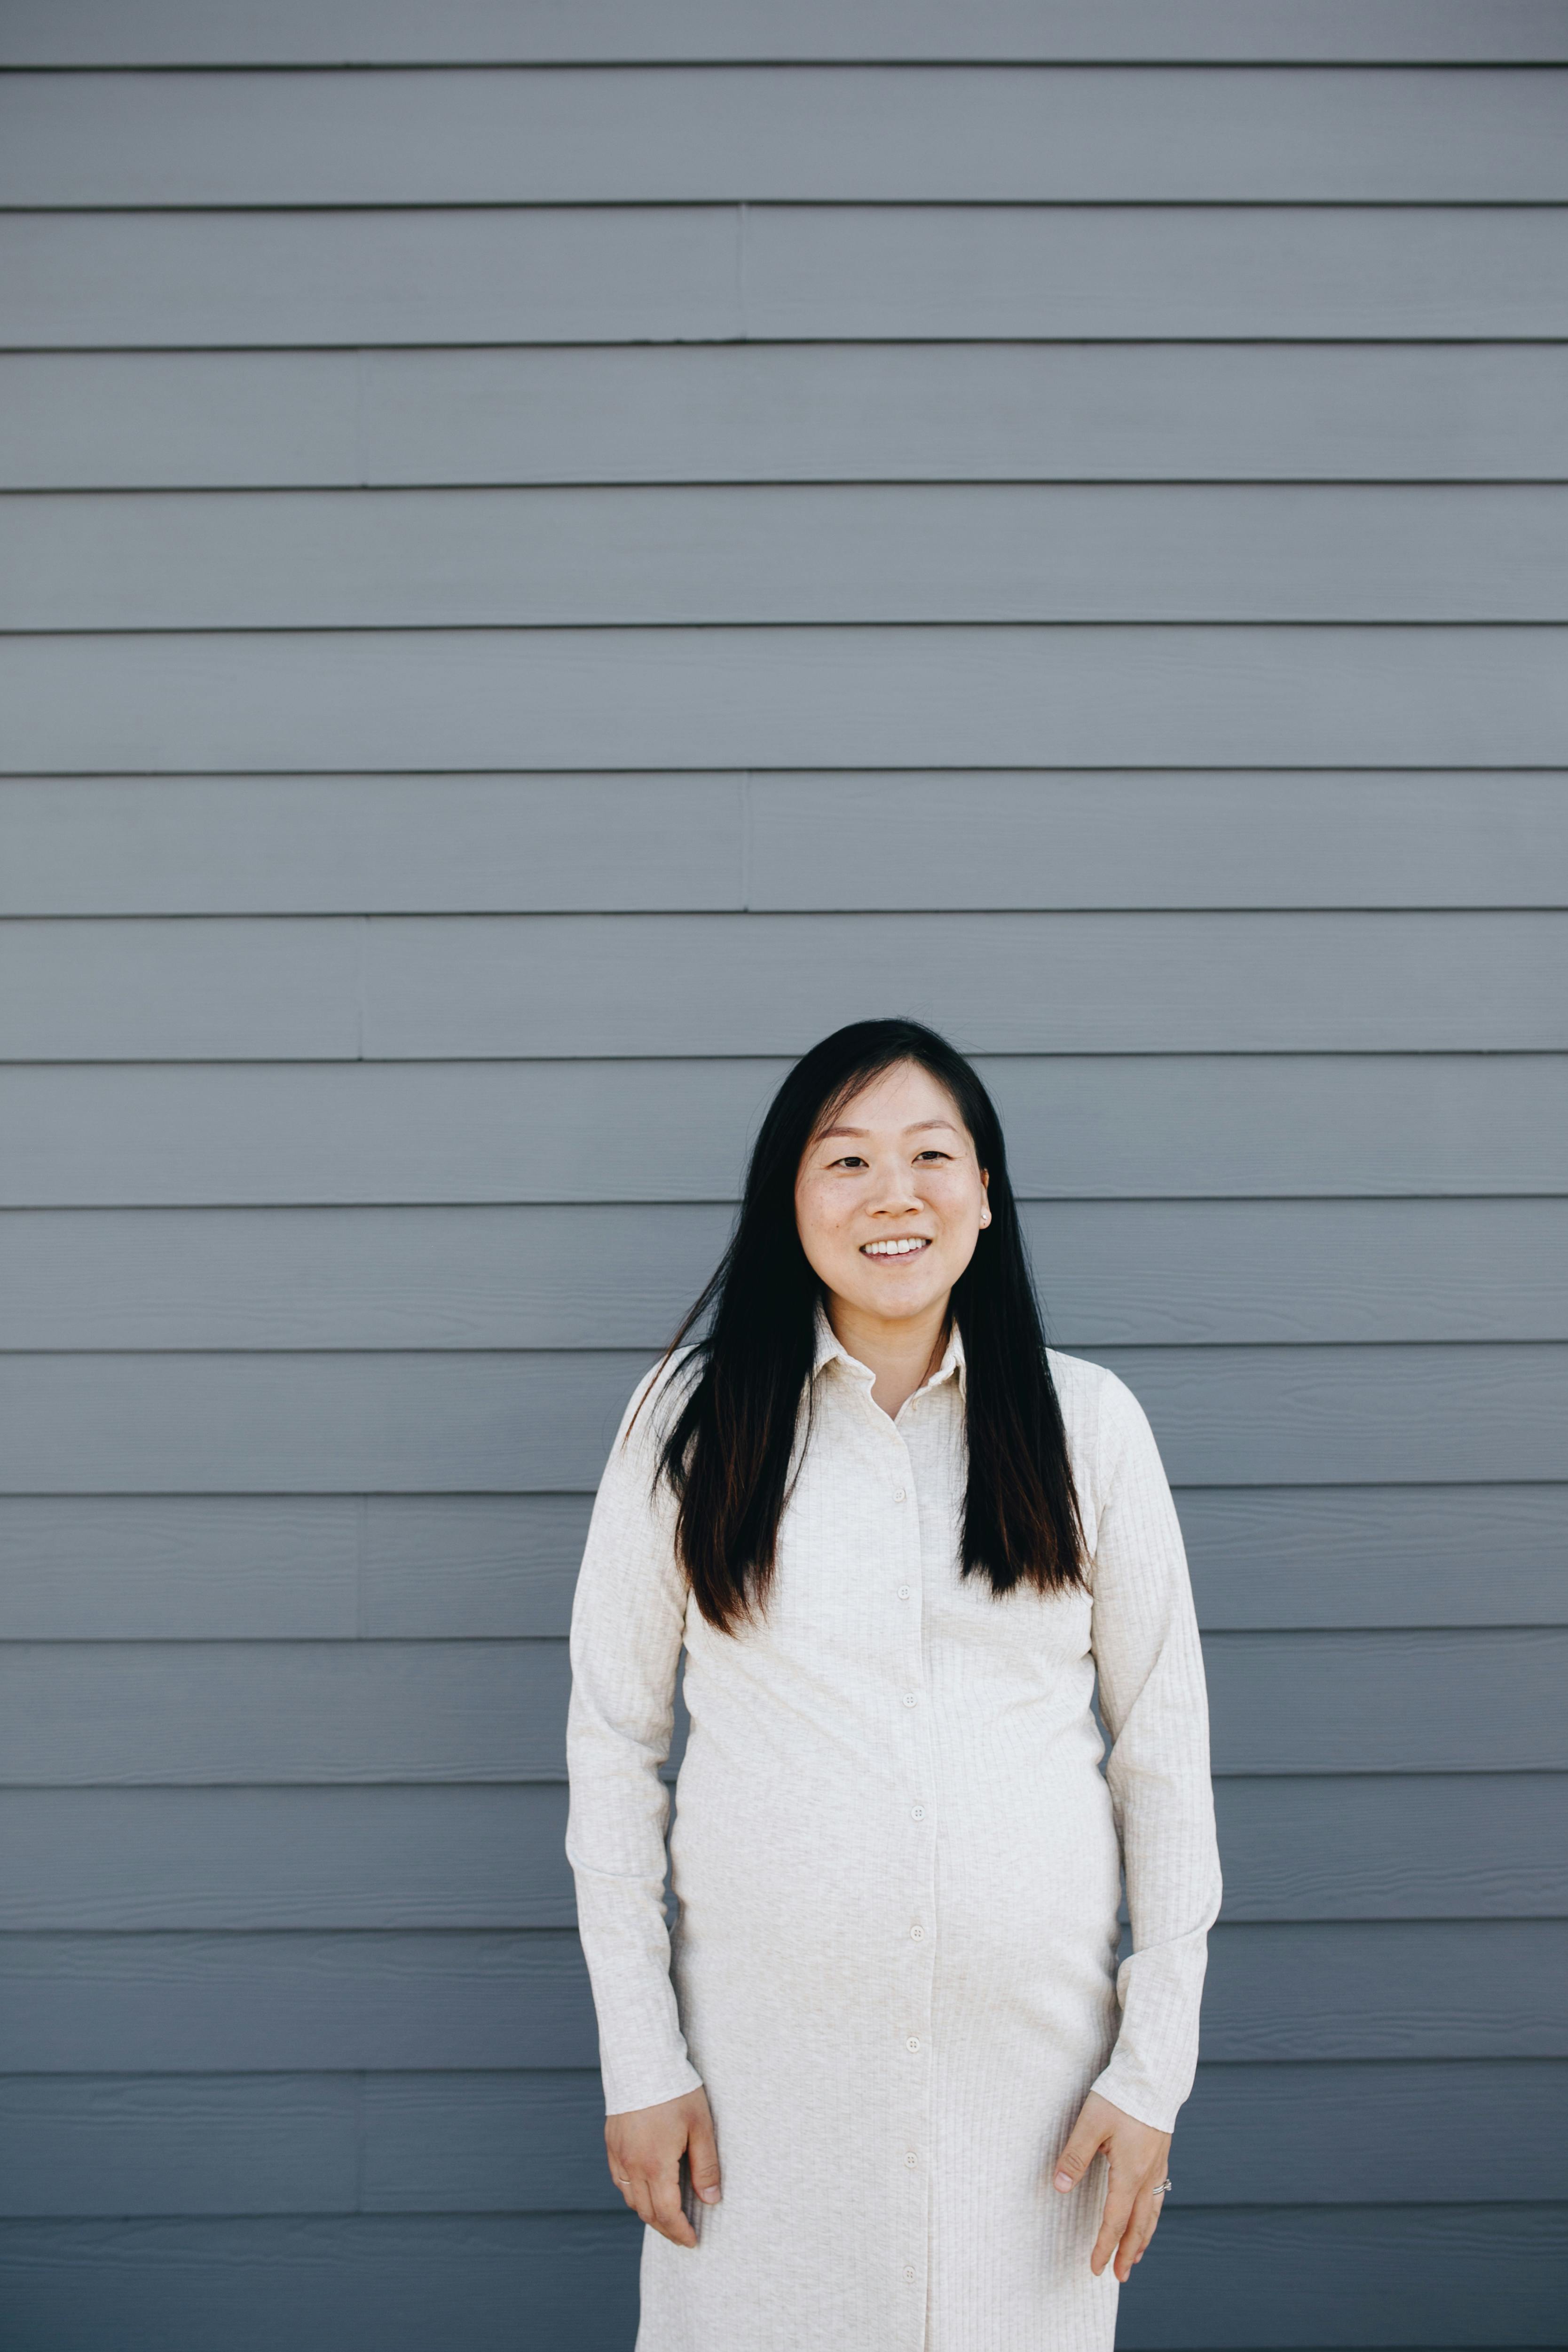
[[945,1305],[990,1223],[985,1169],[947,1089],[900,1061],[835,1112],[799,1164],[795,1223],[827,1291],[903,1322]]

